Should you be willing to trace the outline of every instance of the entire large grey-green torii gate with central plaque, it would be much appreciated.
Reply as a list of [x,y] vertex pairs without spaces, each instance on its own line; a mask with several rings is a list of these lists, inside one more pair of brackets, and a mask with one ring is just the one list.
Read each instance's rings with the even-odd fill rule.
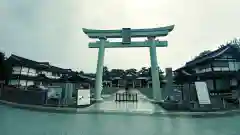
[[[162,93],[160,89],[156,47],[167,47],[168,42],[158,41],[155,40],[155,38],[167,36],[168,33],[171,32],[173,29],[174,25],[150,29],[122,28],[118,30],[96,30],[83,28],[83,32],[87,34],[89,38],[100,40],[96,42],[90,42],[88,45],[89,48],[99,48],[95,82],[95,100],[102,100],[101,91],[105,48],[149,47],[151,59],[153,98],[155,102],[161,101]],[[131,38],[139,37],[147,37],[148,40],[133,42],[131,41]],[[107,41],[108,38],[122,38],[122,42],[109,42]]]

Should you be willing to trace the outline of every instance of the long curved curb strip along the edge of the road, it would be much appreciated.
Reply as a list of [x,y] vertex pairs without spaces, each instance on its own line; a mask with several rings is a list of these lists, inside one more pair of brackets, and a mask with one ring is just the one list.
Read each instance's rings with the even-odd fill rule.
[[0,100],[0,104],[7,105],[13,108],[27,109],[39,112],[49,113],[70,113],[70,114],[122,114],[134,116],[167,116],[167,117],[191,117],[191,118],[204,118],[204,117],[223,117],[239,115],[240,110],[221,111],[221,112],[149,112],[149,111],[118,111],[118,110],[94,110],[86,108],[62,108],[62,107],[45,107],[39,105],[24,105],[8,101]]

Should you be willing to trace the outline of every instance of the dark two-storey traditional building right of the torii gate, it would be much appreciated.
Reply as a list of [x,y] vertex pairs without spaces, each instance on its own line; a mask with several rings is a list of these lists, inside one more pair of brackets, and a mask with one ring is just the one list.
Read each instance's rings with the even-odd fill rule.
[[182,100],[191,107],[198,105],[195,81],[205,81],[212,108],[239,106],[240,50],[235,45],[198,56],[174,71],[175,88],[182,91]]

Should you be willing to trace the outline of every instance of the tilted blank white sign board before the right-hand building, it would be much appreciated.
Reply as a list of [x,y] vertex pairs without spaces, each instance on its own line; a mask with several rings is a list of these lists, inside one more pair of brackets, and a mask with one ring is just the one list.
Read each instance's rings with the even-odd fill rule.
[[211,104],[206,82],[195,82],[199,104]]

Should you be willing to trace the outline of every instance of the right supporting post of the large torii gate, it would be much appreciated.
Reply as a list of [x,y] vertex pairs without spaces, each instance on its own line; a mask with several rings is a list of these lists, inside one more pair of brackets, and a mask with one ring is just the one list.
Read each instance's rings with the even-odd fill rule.
[[148,41],[150,42],[150,59],[151,59],[151,74],[152,74],[152,90],[153,90],[153,99],[156,102],[162,100],[162,93],[160,89],[160,81],[159,81],[159,69],[157,66],[157,52],[156,52],[156,44],[155,37],[148,37]]

